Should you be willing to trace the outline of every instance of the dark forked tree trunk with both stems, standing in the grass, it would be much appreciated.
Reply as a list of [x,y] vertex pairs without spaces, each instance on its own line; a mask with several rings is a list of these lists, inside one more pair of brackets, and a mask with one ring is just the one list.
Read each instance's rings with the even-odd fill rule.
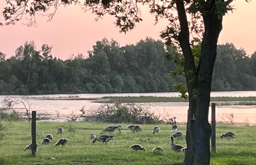
[[[176,0],[176,5],[181,25],[178,40],[185,58],[184,71],[189,94],[186,132],[188,150],[184,165],[209,165],[211,126],[208,122],[208,113],[212,72],[217,54],[218,36],[222,30],[222,18],[218,19],[216,13],[207,13],[203,16],[205,31],[199,65],[195,69],[184,3]],[[215,1],[212,1],[209,9],[214,6]]]

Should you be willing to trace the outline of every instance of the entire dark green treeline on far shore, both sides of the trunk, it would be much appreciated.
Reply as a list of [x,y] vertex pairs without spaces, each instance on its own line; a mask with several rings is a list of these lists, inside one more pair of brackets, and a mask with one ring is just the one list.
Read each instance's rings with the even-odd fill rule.
[[[51,49],[26,42],[8,59],[0,52],[0,94],[169,92],[185,82],[169,75],[177,65],[166,61],[163,43],[151,38],[124,47],[104,38],[86,58],[53,58]],[[212,90],[256,90],[255,66],[256,53],[250,58],[233,44],[218,46]]]

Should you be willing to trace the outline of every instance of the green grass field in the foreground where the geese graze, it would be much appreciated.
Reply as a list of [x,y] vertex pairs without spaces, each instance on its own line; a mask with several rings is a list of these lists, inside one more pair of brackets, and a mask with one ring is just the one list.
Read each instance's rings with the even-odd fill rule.
[[[90,133],[99,135],[102,129],[113,124],[102,123],[60,123],[37,122],[36,157],[31,157],[31,150],[24,152],[24,148],[31,143],[30,123],[2,122],[6,128],[5,138],[0,142],[0,165],[172,165],[181,163],[183,153],[176,153],[170,149],[171,126],[158,125],[160,132],[152,134],[155,125],[142,125],[142,132],[127,131],[121,124],[121,133],[112,135],[116,139],[107,145],[97,141],[92,144]],[[63,127],[62,135],[56,135],[56,129]],[[179,131],[185,133],[185,126]],[[227,131],[237,133],[234,139],[220,139],[219,135]],[[256,162],[256,127],[217,125],[217,153],[212,153],[211,165],[255,165]],[[46,134],[53,135],[50,145],[41,145]],[[53,146],[59,138],[68,138],[66,146]],[[186,146],[185,138],[174,138],[174,143]],[[141,144],[146,151],[137,154],[129,148],[133,144]],[[165,149],[163,155],[154,155],[152,149],[161,146]]]

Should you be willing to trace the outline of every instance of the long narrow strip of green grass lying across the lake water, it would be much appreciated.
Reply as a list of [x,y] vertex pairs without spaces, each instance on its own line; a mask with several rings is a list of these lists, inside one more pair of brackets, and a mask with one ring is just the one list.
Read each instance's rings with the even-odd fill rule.
[[[103,97],[102,100],[97,100],[94,102],[98,103],[108,103],[108,102],[136,102],[136,103],[147,103],[147,102],[188,102],[188,100],[184,98],[178,97]],[[256,104],[256,97],[216,97],[211,98],[211,102],[238,102],[237,104]]]

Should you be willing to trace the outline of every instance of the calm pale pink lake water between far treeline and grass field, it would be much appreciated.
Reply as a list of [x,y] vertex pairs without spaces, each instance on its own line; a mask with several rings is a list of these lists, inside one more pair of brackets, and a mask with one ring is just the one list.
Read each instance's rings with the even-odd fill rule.
[[[79,98],[67,98],[70,95],[78,95]],[[101,103],[94,103],[93,98],[102,98],[105,96],[110,97],[139,97],[139,96],[153,96],[153,97],[178,97],[178,92],[157,92],[157,93],[104,93],[104,94],[47,94],[47,95],[29,95],[30,110],[37,111],[41,117],[44,115],[57,117],[57,113],[62,117],[59,121],[67,120],[71,113],[79,114],[82,107],[85,110],[97,108]],[[6,95],[0,95],[1,105]],[[14,95],[18,100],[22,100],[21,95]],[[224,91],[224,92],[211,92],[211,97],[256,97],[256,91]],[[68,100],[66,100],[68,99]],[[78,99],[78,100],[71,100]],[[26,102],[26,106],[29,105]],[[172,103],[141,103],[141,106],[149,106],[150,110],[163,118],[176,116],[178,122],[186,122],[188,103],[172,102]],[[17,104],[14,107],[19,112],[25,112],[22,104]],[[210,111],[209,111],[210,112]],[[256,106],[217,106],[216,107],[216,120],[229,121],[229,114],[234,114],[235,123],[248,123],[256,124]],[[211,119],[209,114],[209,120]]]

